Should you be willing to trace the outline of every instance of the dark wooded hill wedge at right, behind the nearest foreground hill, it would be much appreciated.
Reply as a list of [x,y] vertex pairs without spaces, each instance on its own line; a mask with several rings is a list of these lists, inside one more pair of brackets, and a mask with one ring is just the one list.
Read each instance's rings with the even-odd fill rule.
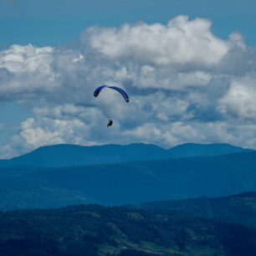
[[160,212],[180,210],[205,218],[220,219],[256,228],[256,192],[245,192],[229,197],[147,202],[133,207]]

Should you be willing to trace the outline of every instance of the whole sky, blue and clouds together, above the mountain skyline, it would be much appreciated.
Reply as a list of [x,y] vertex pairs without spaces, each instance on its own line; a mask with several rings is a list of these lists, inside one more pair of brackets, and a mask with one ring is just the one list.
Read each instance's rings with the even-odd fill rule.
[[[0,0],[0,158],[59,143],[256,149],[255,13],[253,0]],[[101,84],[131,101],[95,98]]]

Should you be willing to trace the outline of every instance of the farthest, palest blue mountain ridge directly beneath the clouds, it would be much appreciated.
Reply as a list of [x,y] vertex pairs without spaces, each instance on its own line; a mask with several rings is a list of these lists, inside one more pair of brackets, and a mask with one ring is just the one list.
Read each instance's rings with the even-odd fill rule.
[[147,161],[187,156],[219,156],[251,151],[228,144],[183,144],[163,149],[151,144],[131,144],[126,146],[42,146],[37,150],[11,160],[0,161],[0,166],[83,166],[124,161]]

